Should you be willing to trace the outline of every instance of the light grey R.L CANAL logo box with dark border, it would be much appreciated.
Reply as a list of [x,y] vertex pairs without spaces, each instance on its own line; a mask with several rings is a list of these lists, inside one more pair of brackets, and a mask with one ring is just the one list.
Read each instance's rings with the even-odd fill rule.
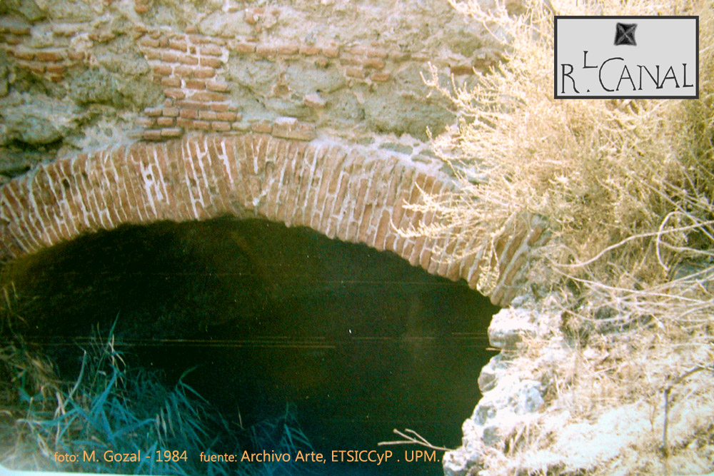
[[554,97],[699,98],[699,16],[555,16]]

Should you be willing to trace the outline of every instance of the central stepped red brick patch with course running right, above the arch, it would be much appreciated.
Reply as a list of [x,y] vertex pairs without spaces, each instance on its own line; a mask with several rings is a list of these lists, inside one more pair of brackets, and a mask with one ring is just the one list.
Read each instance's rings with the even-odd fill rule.
[[[265,9],[248,9],[244,21],[258,31],[259,21],[253,19],[260,19],[263,14]],[[137,38],[139,48],[152,66],[154,82],[163,86],[167,98],[166,108],[144,111],[145,117],[137,122],[144,129],[141,138],[159,141],[180,135],[183,130],[226,133],[248,129],[302,141],[315,138],[315,127],[310,123],[295,123],[291,131],[285,132],[282,123],[286,119],[294,123],[296,118],[278,118],[275,123],[241,122],[240,111],[228,100],[229,86],[223,77],[223,67],[231,54],[253,61],[308,61],[316,68],[336,64],[346,79],[366,84],[388,81],[389,66],[411,59],[410,54],[378,44],[342,47],[333,42],[320,46],[296,41],[264,43],[252,36],[218,38],[196,34],[190,27],[188,30],[192,33],[144,29],[143,35]],[[461,68],[459,72],[472,74],[473,68]],[[276,93],[279,95],[279,91]],[[304,103],[316,109],[325,106],[318,94],[307,96]],[[166,109],[171,114],[167,114]],[[178,116],[174,115],[176,111]],[[166,131],[167,128],[171,131]]]

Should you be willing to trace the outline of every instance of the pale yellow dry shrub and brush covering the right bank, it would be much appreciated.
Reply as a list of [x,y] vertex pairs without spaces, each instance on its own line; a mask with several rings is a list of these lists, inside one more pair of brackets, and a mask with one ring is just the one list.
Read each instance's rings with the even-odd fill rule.
[[[696,438],[707,441],[697,448],[713,451],[711,373],[673,388],[671,411],[686,401],[698,410],[680,415],[681,425],[670,421],[677,436],[664,448],[662,391],[693,366],[714,363],[714,2],[524,0],[522,9],[501,1],[484,9],[450,1],[501,41],[503,61],[477,75],[476,86],[454,81],[453,92],[439,86],[435,68],[426,78],[460,111],[458,127],[433,138],[460,186],[426,197],[439,220],[411,232],[488,237],[524,213],[543,216],[553,236],[535,252],[531,288],[563,296],[553,332],[577,360],[540,366],[543,336],[523,344],[521,365],[543,381],[570,375],[546,413],[566,411],[574,424],[596,422],[618,405],[645,405],[650,432],[623,444],[640,455],[623,474],[669,471],[678,452],[696,451]],[[555,100],[553,14],[700,15],[700,98]],[[488,291],[491,283],[480,285]],[[528,432],[524,455],[558,451],[558,428],[548,436],[547,426]],[[509,471],[516,460],[508,459]],[[527,472],[577,472],[562,458],[548,461]],[[614,474],[596,458],[590,466]]]

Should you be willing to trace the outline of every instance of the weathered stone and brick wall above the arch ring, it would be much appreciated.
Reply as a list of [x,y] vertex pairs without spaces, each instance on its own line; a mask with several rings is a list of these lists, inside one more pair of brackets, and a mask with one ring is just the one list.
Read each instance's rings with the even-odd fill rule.
[[411,153],[454,118],[427,62],[458,84],[498,57],[446,0],[267,3],[3,2],[0,174],[186,131],[285,136],[280,117]]

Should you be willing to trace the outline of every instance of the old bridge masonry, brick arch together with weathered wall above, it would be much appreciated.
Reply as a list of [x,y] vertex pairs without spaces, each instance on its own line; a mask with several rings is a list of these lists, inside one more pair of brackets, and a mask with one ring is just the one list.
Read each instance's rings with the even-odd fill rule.
[[393,251],[506,305],[536,221],[399,233],[440,219],[408,208],[422,191],[457,187],[429,150],[427,129],[456,114],[426,63],[465,86],[498,61],[481,36],[444,0],[0,10],[0,260],[122,223],[257,216]]

